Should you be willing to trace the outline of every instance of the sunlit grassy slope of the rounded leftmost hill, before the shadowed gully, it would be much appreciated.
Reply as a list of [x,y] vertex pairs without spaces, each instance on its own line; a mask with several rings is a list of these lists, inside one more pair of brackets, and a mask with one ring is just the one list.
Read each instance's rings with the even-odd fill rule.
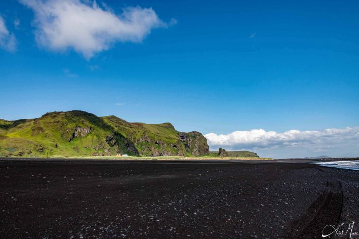
[[[75,128],[90,129],[84,137],[74,136]],[[112,133],[94,114],[84,111],[52,112],[40,118],[15,121],[7,124],[4,139],[0,140],[0,155],[4,156],[92,156],[93,147],[105,144],[105,137]],[[111,151],[101,147],[99,153]]]

